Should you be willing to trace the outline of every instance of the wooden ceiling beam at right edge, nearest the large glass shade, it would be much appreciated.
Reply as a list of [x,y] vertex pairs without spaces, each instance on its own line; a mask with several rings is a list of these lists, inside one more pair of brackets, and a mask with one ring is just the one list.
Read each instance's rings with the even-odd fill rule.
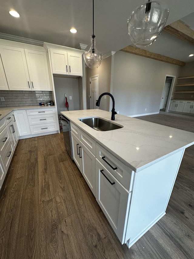
[[194,45],[194,31],[181,21],[173,22],[163,29],[166,32],[176,36],[179,39]]

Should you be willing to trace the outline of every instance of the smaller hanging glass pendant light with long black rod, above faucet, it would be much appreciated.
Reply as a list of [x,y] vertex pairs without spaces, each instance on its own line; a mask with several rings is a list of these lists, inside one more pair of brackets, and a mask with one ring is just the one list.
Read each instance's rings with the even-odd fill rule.
[[98,68],[102,62],[102,53],[96,49],[96,38],[94,35],[94,0],[93,0],[93,34],[91,36],[91,47],[84,52],[84,60],[89,68]]

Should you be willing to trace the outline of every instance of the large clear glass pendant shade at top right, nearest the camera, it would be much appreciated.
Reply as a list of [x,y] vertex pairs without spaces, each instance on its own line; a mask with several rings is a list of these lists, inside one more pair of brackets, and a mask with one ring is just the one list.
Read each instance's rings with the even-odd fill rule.
[[151,45],[162,32],[169,9],[165,3],[147,1],[136,8],[128,18],[128,32],[137,47]]

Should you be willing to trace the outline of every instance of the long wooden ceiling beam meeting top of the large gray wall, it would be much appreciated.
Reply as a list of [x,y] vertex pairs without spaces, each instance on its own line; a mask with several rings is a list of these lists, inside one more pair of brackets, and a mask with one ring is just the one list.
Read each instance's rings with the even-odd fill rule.
[[147,51],[145,49],[139,49],[139,48],[136,48],[136,47],[133,47],[133,46],[127,46],[127,47],[121,49],[121,51],[131,53],[131,54],[135,54],[135,55],[138,55],[138,56],[143,56],[143,57],[154,59],[154,60],[159,60],[159,61],[162,61],[162,62],[177,65],[177,66],[185,66],[185,64],[186,64],[183,61],[176,60],[176,59],[173,59],[173,58],[170,58],[170,57],[166,57],[166,56],[163,56],[163,55],[160,55],[160,54],[157,54],[157,53],[152,53],[152,52]]

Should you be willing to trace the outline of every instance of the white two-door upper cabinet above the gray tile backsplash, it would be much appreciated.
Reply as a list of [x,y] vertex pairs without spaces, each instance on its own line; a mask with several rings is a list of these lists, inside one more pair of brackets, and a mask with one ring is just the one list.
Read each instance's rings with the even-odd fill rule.
[[9,90],[51,90],[45,52],[0,45]]

